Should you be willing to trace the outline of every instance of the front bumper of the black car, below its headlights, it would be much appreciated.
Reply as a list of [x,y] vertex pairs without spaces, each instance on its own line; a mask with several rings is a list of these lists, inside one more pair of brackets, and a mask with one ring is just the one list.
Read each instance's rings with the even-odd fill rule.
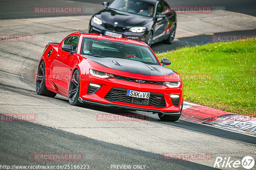
[[108,29],[106,29],[103,25],[95,24],[92,21],[90,22],[89,31],[88,31],[89,33],[102,34],[102,35],[105,36],[105,32],[106,31],[114,32],[114,33],[117,33],[117,34],[122,34],[122,38],[127,38],[127,39],[136,40],[136,41],[142,41],[142,42],[147,42],[148,30],[146,30],[145,32],[141,32],[141,33],[136,33],[136,32],[131,32],[131,31],[116,32],[115,30],[108,30]]

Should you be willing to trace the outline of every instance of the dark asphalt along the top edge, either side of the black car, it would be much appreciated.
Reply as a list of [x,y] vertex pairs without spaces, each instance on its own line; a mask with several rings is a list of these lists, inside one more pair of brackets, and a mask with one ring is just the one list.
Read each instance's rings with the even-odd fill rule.
[[[85,10],[83,15],[92,15],[103,9],[101,5],[104,0],[20,0],[20,1],[0,1],[0,19],[17,19],[17,18],[40,18],[40,17],[57,17],[55,14],[37,15],[33,13],[35,6],[83,6],[84,8],[93,8]],[[111,2],[111,1],[109,1]],[[226,11],[239,12],[247,15],[256,16],[255,0],[166,0],[170,6],[223,6]],[[87,4],[94,4],[88,6]],[[65,15],[59,15],[65,16]],[[70,16],[70,15],[66,15]]]

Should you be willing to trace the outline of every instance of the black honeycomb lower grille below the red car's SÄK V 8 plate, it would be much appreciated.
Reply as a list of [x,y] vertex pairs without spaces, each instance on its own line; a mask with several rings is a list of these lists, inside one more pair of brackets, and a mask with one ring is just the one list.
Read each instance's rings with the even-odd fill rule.
[[112,88],[105,96],[105,100],[112,102],[124,102],[139,105],[155,106],[157,108],[166,107],[164,95],[161,93],[150,93],[149,99],[141,99],[136,97],[126,96],[127,89]]

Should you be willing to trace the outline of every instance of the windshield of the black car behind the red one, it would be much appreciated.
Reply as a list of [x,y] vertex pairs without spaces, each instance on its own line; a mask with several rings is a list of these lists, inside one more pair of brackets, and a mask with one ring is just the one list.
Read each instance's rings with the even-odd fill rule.
[[109,5],[109,8],[148,17],[152,17],[154,14],[154,4],[138,0],[116,0]]

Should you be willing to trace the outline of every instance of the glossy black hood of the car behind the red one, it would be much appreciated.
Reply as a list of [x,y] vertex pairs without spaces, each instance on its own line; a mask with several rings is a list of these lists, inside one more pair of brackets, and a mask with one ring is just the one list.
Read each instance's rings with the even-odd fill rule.
[[152,20],[152,18],[145,17],[142,15],[132,14],[129,12],[108,8],[100,11],[95,16],[101,19],[103,23],[114,25],[114,23],[117,22],[118,25],[124,27],[143,26]]

